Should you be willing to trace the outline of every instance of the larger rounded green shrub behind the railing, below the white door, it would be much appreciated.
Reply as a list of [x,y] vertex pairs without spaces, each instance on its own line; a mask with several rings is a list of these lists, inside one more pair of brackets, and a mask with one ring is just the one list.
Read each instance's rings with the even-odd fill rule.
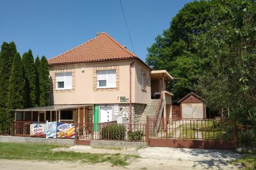
[[124,140],[125,132],[125,125],[106,124],[100,130],[100,137],[101,139]]

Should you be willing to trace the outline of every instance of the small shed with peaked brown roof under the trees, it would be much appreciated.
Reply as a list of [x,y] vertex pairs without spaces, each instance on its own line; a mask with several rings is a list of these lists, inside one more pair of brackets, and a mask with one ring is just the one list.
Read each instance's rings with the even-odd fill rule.
[[190,92],[180,101],[180,118],[206,118],[205,101],[194,92]]

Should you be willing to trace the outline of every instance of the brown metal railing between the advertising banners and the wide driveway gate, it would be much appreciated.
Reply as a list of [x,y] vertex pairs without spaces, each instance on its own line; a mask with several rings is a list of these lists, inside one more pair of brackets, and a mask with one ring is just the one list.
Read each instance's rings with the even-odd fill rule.
[[146,142],[146,124],[77,124],[77,138],[90,140]]

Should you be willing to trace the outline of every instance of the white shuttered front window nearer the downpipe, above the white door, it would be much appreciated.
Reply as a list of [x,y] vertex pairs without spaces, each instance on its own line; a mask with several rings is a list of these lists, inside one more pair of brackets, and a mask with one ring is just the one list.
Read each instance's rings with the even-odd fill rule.
[[97,88],[115,88],[116,70],[97,70]]

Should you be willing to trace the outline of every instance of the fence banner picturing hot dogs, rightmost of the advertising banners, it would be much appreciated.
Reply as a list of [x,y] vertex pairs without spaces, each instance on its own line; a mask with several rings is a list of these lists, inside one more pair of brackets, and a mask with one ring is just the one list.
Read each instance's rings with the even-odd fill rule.
[[75,138],[76,126],[74,123],[57,123],[58,138]]

